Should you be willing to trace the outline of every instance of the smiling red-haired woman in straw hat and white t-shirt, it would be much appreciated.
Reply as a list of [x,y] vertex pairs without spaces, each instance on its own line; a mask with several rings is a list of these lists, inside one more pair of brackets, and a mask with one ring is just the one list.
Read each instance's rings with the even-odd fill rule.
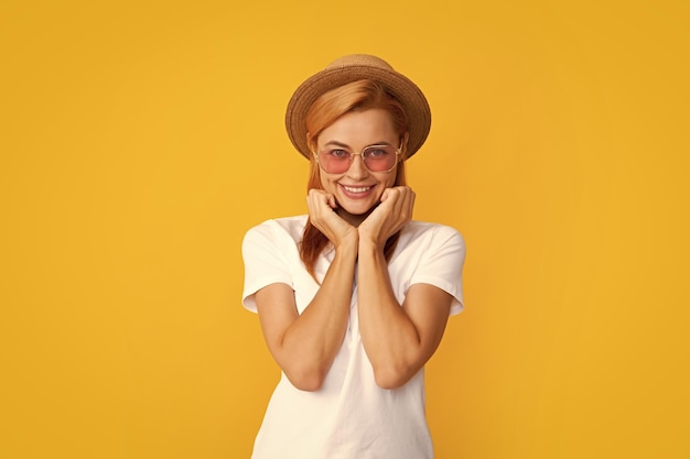
[[462,309],[465,248],[411,220],[405,161],[429,133],[427,99],[349,55],[297,89],[285,123],[310,161],[309,215],[242,243],[242,303],[282,370],[252,458],[432,458],[423,368]]

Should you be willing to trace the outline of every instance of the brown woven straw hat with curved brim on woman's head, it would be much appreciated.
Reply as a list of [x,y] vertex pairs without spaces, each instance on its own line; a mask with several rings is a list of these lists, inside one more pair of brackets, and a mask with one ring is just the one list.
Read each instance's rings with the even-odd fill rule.
[[325,69],[308,78],[294,91],[288,103],[285,112],[288,135],[306,159],[311,156],[304,125],[309,108],[324,92],[360,79],[381,83],[402,103],[410,133],[407,157],[412,156],[422,146],[431,129],[431,110],[422,91],[386,61],[368,54],[351,54],[334,61]]

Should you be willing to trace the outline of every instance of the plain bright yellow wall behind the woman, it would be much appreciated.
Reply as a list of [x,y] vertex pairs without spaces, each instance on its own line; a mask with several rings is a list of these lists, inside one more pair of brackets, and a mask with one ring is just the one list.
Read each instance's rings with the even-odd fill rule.
[[689,13],[4,0],[0,457],[248,457],[279,373],[240,241],[305,211],[284,106],[353,52],[427,92],[416,218],[467,241],[438,457],[690,457]]

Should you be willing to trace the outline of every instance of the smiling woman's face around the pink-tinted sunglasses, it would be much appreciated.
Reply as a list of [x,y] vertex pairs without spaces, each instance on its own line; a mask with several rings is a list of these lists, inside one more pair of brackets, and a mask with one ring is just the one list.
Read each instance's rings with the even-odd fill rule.
[[384,190],[396,182],[397,164],[389,172],[370,172],[359,153],[370,145],[388,144],[397,149],[399,143],[390,114],[382,109],[345,113],[321,132],[316,152],[338,147],[354,153],[344,173],[320,170],[321,185],[335,196],[336,212],[345,220],[358,225],[380,203]]

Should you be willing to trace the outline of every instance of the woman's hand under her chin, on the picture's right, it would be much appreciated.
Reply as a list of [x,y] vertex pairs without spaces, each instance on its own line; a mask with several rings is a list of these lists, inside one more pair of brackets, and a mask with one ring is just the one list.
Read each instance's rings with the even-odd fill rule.
[[386,188],[381,204],[359,225],[359,240],[384,248],[388,238],[412,219],[414,192],[408,186]]

